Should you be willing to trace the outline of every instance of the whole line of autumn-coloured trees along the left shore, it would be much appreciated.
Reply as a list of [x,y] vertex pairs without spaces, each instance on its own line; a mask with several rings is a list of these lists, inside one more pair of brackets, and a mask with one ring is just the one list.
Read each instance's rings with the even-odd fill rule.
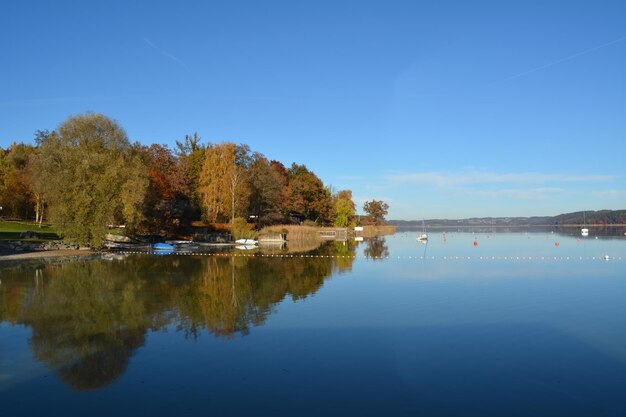
[[[99,113],[37,131],[34,145],[0,148],[0,206],[3,217],[50,220],[67,240],[94,246],[120,224],[160,235],[194,220],[357,224],[352,192],[332,190],[305,165],[287,167],[244,144],[205,144],[195,133],[173,149],[131,143]],[[387,209],[366,202],[366,221],[384,223]]]

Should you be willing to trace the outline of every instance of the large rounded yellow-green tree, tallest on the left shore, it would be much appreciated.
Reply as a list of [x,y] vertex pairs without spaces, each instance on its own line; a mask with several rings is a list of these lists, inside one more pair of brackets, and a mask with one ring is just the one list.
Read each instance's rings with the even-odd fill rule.
[[42,140],[36,157],[33,175],[45,184],[52,221],[67,240],[99,246],[108,225],[132,230],[142,220],[147,167],[114,120],[70,116]]

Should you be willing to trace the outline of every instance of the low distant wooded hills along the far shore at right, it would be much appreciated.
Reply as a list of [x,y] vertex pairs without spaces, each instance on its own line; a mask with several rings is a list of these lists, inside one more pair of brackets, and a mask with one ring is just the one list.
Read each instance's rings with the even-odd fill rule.
[[[577,211],[574,213],[559,214],[558,216],[482,217],[461,220],[428,219],[425,220],[425,223],[430,227],[567,226],[583,224],[583,218],[585,219],[585,223],[588,225],[626,224],[626,210]],[[421,220],[390,220],[388,223],[398,227],[422,226]]]

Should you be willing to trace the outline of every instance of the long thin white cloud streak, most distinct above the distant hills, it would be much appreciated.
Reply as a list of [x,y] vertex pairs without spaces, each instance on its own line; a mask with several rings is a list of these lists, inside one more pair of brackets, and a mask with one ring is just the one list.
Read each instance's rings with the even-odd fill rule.
[[463,185],[486,184],[541,184],[568,182],[608,182],[613,177],[608,175],[565,175],[544,173],[495,173],[495,172],[418,172],[388,175],[388,181],[398,184],[426,184],[437,187],[458,187]]

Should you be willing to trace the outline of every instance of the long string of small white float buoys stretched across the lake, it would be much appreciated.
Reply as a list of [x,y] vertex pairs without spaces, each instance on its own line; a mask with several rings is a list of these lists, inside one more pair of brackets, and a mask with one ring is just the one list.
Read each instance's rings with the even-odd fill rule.
[[[141,251],[120,251],[116,252],[124,255],[149,255],[153,254],[153,252],[141,252]],[[609,255],[604,256],[592,256],[592,257],[576,257],[576,256],[353,256],[353,255],[292,255],[292,254],[262,254],[262,253],[210,253],[210,252],[172,252],[163,254],[166,256],[221,256],[221,257],[242,257],[242,258],[254,258],[254,257],[265,257],[265,258],[326,258],[326,259],[372,259],[372,260],[383,260],[383,259],[397,259],[397,260],[505,260],[505,261],[513,261],[513,260],[529,260],[529,261],[539,261],[539,260],[605,260],[608,261],[610,259],[622,260],[622,257],[611,258]]]

